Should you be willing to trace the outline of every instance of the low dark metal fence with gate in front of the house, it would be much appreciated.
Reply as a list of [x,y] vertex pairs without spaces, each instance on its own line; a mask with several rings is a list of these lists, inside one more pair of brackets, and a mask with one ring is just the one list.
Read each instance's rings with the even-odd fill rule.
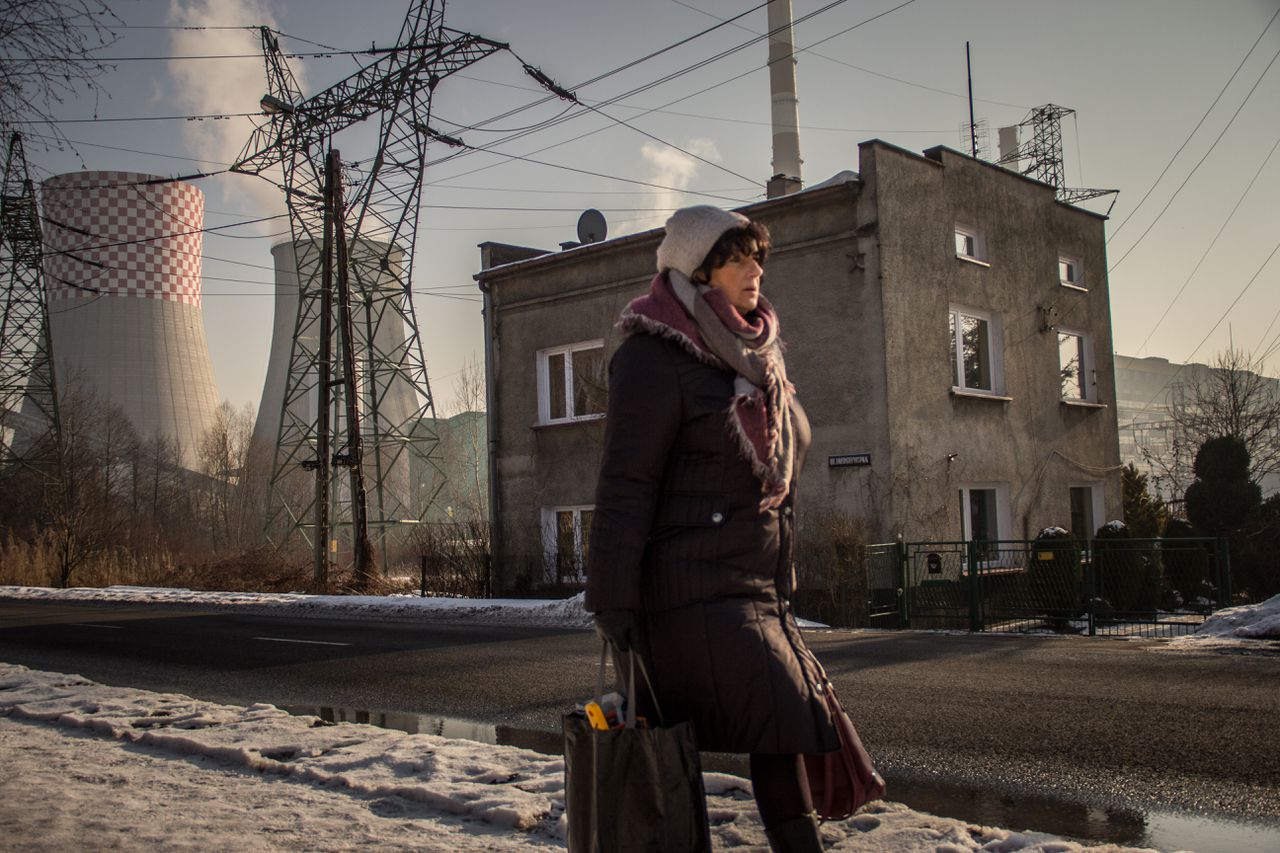
[[895,542],[861,558],[858,606],[823,621],[1176,637],[1231,598],[1225,539]]

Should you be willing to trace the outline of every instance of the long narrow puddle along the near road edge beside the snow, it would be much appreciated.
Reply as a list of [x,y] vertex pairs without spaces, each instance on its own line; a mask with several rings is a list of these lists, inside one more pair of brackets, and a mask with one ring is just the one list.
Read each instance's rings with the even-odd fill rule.
[[[362,722],[408,734],[433,734],[520,747],[547,756],[558,756],[562,752],[558,731],[498,726],[425,713],[352,711],[316,706],[284,706],[284,710],[294,715],[320,717],[326,722]],[[703,770],[742,777],[750,775],[745,756],[724,753],[703,753]],[[1094,844],[1110,843],[1149,847],[1157,850],[1196,850],[1196,853],[1280,850],[1280,827],[1222,817],[1102,808],[1048,797],[1014,795],[901,776],[890,777],[890,795],[895,802],[931,815],[943,815],[986,826],[1050,833]]]

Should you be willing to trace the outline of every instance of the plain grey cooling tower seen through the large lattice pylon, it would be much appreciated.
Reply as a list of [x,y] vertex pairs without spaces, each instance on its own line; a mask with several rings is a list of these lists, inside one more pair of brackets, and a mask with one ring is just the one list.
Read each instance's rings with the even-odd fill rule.
[[[312,270],[320,263],[321,251],[319,245],[302,242],[280,242],[271,247],[271,256],[275,263],[275,323],[271,333],[271,353],[266,365],[266,382],[262,386],[262,401],[257,409],[257,423],[253,426],[253,444],[256,447],[275,448],[280,429],[280,415],[283,414],[285,380],[289,374],[289,360],[292,356],[294,327],[298,315],[298,256],[302,256],[303,269]],[[394,291],[403,293],[403,264],[404,252],[401,248],[388,251],[388,245],[370,240],[357,240],[352,243],[351,264],[358,275],[372,278],[371,287],[378,291]],[[319,282],[319,278],[316,278]],[[367,287],[369,284],[366,284]],[[355,289],[355,282],[353,282]],[[376,324],[374,348],[383,356],[393,356],[406,347],[406,334],[403,323],[393,321],[390,313],[378,323],[378,318],[369,316],[358,302],[352,306],[352,323],[357,328],[370,328]],[[301,334],[315,339],[319,336],[319,324],[302,329]],[[338,351],[337,324],[333,329],[334,352]],[[357,339],[361,336],[357,333]],[[367,336],[366,336],[367,337]],[[362,418],[361,434],[364,435],[366,451],[371,442],[374,429],[371,418],[371,403],[369,388],[364,378],[370,374],[370,353],[356,352],[357,389],[360,391],[360,409]],[[334,379],[337,379],[337,371]],[[314,377],[307,377],[305,384],[314,386]],[[302,423],[316,420],[317,397],[315,391],[294,400],[293,414]],[[401,425],[410,421],[420,409],[417,393],[413,387],[404,380],[394,380],[384,393],[378,396],[378,424]],[[335,412],[334,423],[339,423],[340,412]],[[338,442],[340,444],[340,442]],[[337,451],[338,447],[334,447]],[[380,475],[383,489],[387,492],[385,506],[393,511],[393,506],[413,507],[410,514],[416,514],[421,502],[416,496],[410,494],[410,455],[399,452],[369,453],[365,460],[365,476],[374,492],[374,478]],[[397,512],[398,514],[398,512]],[[378,512],[374,511],[374,517]]]

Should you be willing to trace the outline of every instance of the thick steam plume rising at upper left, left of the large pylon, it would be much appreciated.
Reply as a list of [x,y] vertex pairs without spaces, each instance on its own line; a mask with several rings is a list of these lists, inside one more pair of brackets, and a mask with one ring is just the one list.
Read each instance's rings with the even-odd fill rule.
[[[268,26],[275,27],[275,15],[264,0],[172,0],[169,23],[184,27]],[[172,97],[193,115],[256,113],[259,100],[268,91],[266,70],[261,59],[259,33],[248,29],[175,31],[170,37],[175,56],[230,54],[244,59],[207,59],[169,63]],[[301,70],[294,68],[294,74]],[[301,85],[301,77],[300,77]],[[306,91],[303,88],[303,91]],[[248,118],[205,119],[189,122],[184,129],[195,156],[218,163],[233,163],[244,149],[253,122]],[[273,179],[280,179],[276,172]],[[224,196],[252,207],[250,213],[270,216],[284,213],[284,196],[270,183],[246,175],[228,175],[223,182]],[[262,223],[262,233],[280,231],[280,222]]]

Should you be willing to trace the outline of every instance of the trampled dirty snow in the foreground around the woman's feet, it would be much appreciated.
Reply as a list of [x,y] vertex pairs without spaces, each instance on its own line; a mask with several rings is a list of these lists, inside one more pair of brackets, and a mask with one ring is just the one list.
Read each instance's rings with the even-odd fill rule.
[[[325,724],[269,704],[214,704],[0,663],[0,826],[13,849],[564,847],[557,757]],[[716,849],[765,850],[750,783],[705,774],[705,784]],[[827,824],[823,836],[846,852],[1085,849],[887,802]]]

